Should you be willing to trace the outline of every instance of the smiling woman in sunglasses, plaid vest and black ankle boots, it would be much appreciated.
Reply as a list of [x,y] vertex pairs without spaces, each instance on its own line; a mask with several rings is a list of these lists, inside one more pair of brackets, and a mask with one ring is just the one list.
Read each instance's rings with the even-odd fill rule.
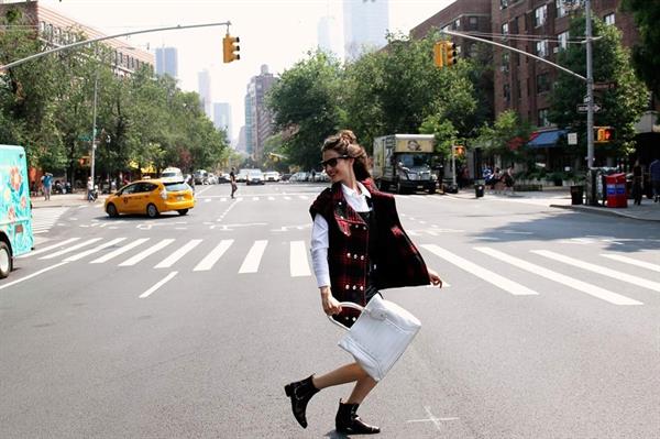
[[[311,256],[321,305],[327,315],[351,327],[359,312],[342,309],[340,301],[365,306],[380,289],[428,285],[442,287],[405,233],[394,197],[376,190],[371,180],[366,152],[351,131],[323,142],[321,167],[332,182],[311,205],[314,220]],[[307,404],[320,389],[355,383],[349,398],[340,400],[337,431],[345,435],[377,433],[364,422],[358,407],[375,387],[359,363],[345,364],[324,375],[311,375],[285,386],[296,420],[307,428]]]

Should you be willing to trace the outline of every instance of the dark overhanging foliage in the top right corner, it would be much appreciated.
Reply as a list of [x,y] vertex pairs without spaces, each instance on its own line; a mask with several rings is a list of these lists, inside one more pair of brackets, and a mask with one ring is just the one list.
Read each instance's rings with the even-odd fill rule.
[[632,64],[656,96],[660,96],[660,2],[623,0],[620,8],[631,12],[639,32],[639,44],[632,50]]

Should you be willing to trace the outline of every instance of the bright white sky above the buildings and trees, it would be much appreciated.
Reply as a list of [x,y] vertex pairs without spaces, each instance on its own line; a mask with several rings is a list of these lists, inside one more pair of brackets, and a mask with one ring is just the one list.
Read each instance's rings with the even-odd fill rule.
[[[213,102],[230,102],[233,136],[244,124],[244,97],[250,78],[263,64],[275,75],[290,68],[317,46],[321,17],[336,18],[333,41],[343,42],[342,3],[362,0],[40,0],[40,4],[107,35],[160,26],[231,22],[241,59],[222,63],[226,26],[155,32],[124,39],[128,46],[154,53],[178,50],[179,87],[198,91],[197,74],[211,75]],[[453,0],[389,0],[389,30],[409,30]]]

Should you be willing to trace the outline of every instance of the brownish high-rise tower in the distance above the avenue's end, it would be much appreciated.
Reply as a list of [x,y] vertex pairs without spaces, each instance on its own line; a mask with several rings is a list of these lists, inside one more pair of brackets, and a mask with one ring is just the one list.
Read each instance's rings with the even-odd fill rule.
[[254,76],[248,85],[245,95],[246,146],[249,147],[248,152],[257,160],[262,156],[264,142],[273,132],[273,114],[266,107],[265,97],[275,81],[276,78],[268,73],[268,66],[263,65],[261,74]]

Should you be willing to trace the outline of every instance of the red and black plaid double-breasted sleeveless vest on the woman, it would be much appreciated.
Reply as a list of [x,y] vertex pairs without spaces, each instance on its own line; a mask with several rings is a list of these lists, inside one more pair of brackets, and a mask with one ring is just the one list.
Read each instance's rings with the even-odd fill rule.
[[372,239],[376,239],[376,288],[427,285],[429,274],[419,250],[402,227],[394,196],[381,193],[371,180],[361,183],[372,195],[377,230],[370,231],[362,217],[349,206],[340,183],[323,190],[309,212],[312,219],[316,215],[322,215],[328,221],[328,264],[332,295],[340,301],[364,306],[371,262],[370,233],[375,233]]

